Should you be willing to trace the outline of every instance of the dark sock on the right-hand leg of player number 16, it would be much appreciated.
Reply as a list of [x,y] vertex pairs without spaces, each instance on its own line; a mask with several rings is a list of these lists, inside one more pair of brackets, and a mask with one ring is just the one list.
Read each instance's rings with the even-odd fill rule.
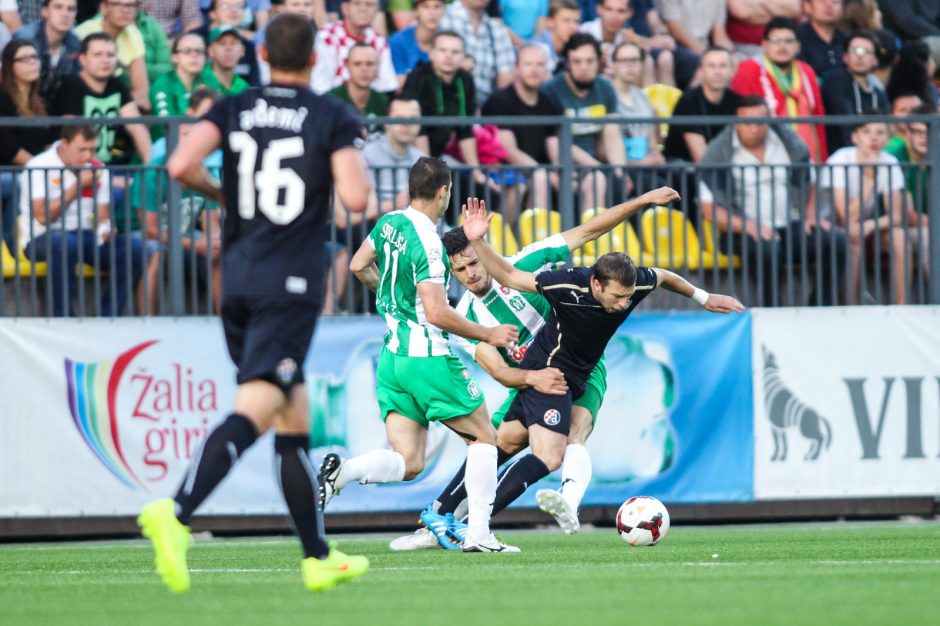
[[323,511],[317,504],[317,473],[307,456],[309,442],[308,435],[277,435],[275,471],[304,557],[324,559],[330,549],[323,529]]

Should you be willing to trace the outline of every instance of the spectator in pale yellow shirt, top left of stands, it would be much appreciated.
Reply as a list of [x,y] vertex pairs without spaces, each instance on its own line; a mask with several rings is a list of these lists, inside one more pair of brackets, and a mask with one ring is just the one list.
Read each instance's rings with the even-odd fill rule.
[[107,33],[117,44],[118,69],[115,76],[130,86],[131,97],[144,113],[150,112],[150,78],[147,76],[146,54],[137,19],[137,0],[104,0],[100,14],[75,28],[79,39],[92,33]]

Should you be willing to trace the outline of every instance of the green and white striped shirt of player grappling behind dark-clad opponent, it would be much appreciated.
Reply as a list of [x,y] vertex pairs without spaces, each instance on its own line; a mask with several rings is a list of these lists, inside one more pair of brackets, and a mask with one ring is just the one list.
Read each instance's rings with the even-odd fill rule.
[[[509,257],[516,268],[532,273],[555,269],[568,260],[568,244],[562,235],[526,246],[518,254]],[[457,303],[457,312],[483,326],[511,324],[519,329],[519,341],[514,350],[498,348],[500,355],[512,367],[518,367],[525,357],[535,333],[545,325],[552,307],[537,293],[522,293],[503,287],[495,280],[490,290],[482,297],[466,292]],[[457,342],[470,356],[476,355],[479,341],[458,337]]]

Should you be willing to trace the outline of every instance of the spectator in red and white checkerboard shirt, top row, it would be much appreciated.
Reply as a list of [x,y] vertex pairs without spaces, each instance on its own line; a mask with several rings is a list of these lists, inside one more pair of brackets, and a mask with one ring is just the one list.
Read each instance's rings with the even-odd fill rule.
[[379,53],[379,72],[372,83],[376,91],[398,89],[395,66],[388,40],[377,33],[372,22],[379,11],[378,0],[349,0],[342,3],[342,20],[331,22],[317,32],[314,45],[317,64],[313,68],[310,88],[324,94],[349,80],[349,51],[357,43],[367,43]]

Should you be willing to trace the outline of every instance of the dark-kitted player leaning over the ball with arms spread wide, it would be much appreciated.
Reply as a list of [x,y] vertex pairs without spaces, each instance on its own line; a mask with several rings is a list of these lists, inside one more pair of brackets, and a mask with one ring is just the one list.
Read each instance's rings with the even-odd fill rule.
[[[468,207],[464,233],[474,252],[500,285],[539,293],[552,305],[551,315],[536,334],[524,369],[555,367],[568,382],[566,395],[548,395],[534,388],[520,391],[509,409],[509,422],[528,430],[532,453],[514,463],[500,479],[493,514],[521,496],[526,488],[561,466],[571,425],[571,404],[584,392],[585,382],[607,343],[633,309],[657,287],[688,296],[709,311],[730,313],[744,306],[730,296],[708,294],[681,276],[660,268],[636,267],[625,254],[605,254],[594,267],[532,274],[509,264],[483,240],[488,229],[486,210],[475,202]],[[544,493],[543,493],[544,492]],[[557,497],[553,497],[557,496]],[[577,512],[558,492],[540,490],[539,506],[559,520]]]

